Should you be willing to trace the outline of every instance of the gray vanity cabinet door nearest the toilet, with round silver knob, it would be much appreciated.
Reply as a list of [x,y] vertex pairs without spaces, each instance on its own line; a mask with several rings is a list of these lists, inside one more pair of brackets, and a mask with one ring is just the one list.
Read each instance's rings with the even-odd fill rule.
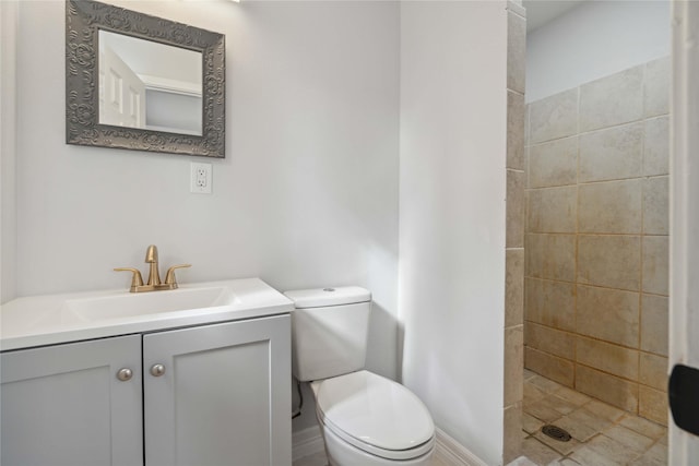
[[291,465],[289,351],[288,315],[144,335],[145,463]]

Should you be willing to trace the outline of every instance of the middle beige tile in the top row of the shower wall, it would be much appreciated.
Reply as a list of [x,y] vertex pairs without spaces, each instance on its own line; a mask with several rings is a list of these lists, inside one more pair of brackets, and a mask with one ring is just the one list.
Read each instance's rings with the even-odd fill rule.
[[639,120],[643,116],[643,65],[580,86],[580,131]]

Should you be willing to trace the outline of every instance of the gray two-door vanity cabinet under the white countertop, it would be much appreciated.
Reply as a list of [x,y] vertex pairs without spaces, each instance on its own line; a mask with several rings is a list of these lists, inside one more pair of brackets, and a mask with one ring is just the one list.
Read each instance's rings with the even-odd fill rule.
[[3,353],[1,464],[291,465],[289,351],[285,314]]

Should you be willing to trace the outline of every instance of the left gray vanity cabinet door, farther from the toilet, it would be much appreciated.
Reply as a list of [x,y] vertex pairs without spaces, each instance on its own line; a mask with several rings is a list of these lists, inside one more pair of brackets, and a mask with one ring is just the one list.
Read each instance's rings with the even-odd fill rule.
[[2,466],[143,464],[141,335],[3,353],[0,363]]

